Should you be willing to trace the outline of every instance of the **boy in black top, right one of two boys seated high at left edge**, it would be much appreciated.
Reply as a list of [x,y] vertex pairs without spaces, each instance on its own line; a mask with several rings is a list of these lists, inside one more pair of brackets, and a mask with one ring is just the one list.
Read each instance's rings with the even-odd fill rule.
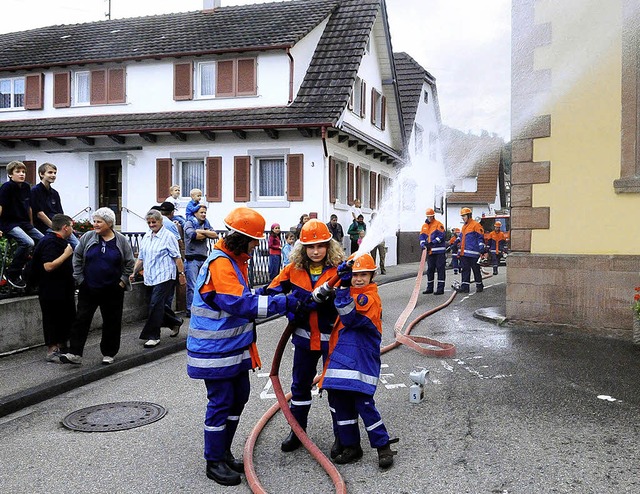
[[[52,185],[56,181],[58,168],[52,163],[43,163],[38,167],[40,183],[31,188],[31,211],[33,226],[43,235],[52,231],[51,220],[55,214],[64,214],[60,194]],[[78,245],[78,237],[69,235],[67,240],[73,249]]]

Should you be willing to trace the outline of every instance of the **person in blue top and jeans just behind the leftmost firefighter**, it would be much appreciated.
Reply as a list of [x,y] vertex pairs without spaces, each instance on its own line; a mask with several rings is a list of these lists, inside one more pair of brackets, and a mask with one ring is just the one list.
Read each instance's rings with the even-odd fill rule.
[[185,272],[187,273],[187,317],[191,317],[193,302],[193,287],[196,284],[198,272],[209,255],[209,240],[215,240],[218,234],[207,220],[207,206],[200,204],[194,213],[194,218],[185,222]]

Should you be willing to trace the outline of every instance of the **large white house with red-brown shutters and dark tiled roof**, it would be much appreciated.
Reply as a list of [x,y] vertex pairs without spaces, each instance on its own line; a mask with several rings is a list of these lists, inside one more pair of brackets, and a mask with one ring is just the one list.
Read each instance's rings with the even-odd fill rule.
[[[427,90],[437,103],[435,84]],[[405,163],[404,113],[384,0],[205,8],[0,38],[0,168],[24,161],[35,183],[37,166],[54,163],[67,213],[108,206],[123,231],[146,230],[141,217],[173,183],[185,205],[191,188],[204,191],[218,229],[247,205],[267,225],[336,213],[346,230],[353,200],[378,209]],[[420,118],[412,128],[431,125]]]

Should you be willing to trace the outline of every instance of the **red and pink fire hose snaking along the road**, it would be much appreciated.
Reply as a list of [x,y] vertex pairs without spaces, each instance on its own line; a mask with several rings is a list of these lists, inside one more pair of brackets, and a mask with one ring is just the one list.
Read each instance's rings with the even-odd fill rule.
[[[409,334],[414,326],[418,324],[418,322],[420,322],[422,319],[435,314],[436,312],[444,309],[449,304],[451,304],[451,302],[453,302],[457,295],[456,290],[453,291],[449,299],[446,300],[443,304],[426,311],[425,313],[421,314],[416,319],[411,321],[411,323],[409,323],[409,325],[407,326],[407,330],[404,333],[402,332],[402,327],[409,318],[409,315],[415,308],[418,301],[426,256],[427,251],[423,250],[413,292],[411,294],[409,302],[407,303],[407,306],[394,325],[395,341],[389,345],[382,347],[380,349],[381,354],[384,354],[400,345],[406,345],[426,356],[446,358],[453,357],[456,353],[456,348],[452,343],[443,343],[431,338],[427,338],[426,336],[412,336]],[[329,285],[329,287],[333,287],[338,282],[338,280],[339,277],[336,275],[331,280],[329,280],[327,284]],[[271,366],[271,372],[269,374],[278,402],[272,405],[256,423],[256,425],[251,430],[251,433],[249,434],[249,437],[247,438],[244,446],[244,468],[245,475],[247,477],[247,483],[249,484],[251,492],[253,492],[254,494],[267,493],[267,491],[258,480],[258,476],[256,474],[255,466],[253,464],[253,450],[256,441],[258,440],[258,437],[260,436],[260,433],[262,432],[266,424],[278,412],[278,410],[282,410],[282,413],[284,414],[287,422],[291,426],[291,430],[295,433],[298,439],[300,439],[300,442],[303,444],[303,446],[316,459],[316,461],[318,461],[320,466],[327,472],[327,474],[333,481],[333,484],[336,488],[336,493],[346,494],[346,485],[344,479],[342,478],[342,475],[340,475],[340,472],[333,464],[333,462],[326,457],[326,455],[320,450],[320,448],[315,445],[313,441],[311,441],[305,430],[300,426],[296,418],[293,416],[288,404],[288,400],[291,398],[291,393],[287,393],[285,395],[282,389],[282,384],[280,383],[280,377],[278,375],[280,370],[280,362],[282,360],[284,349],[289,341],[289,337],[293,333],[294,329],[295,323],[293,321],[290,321],[283,331],[282,336],[280,337],[280,341],[278,342],[278,345],[276,347],[276,351],[273,357],[273,363]],[[424,347],[422,346],[422,344],[429,345],[429,347]],[[316,376],[313,384],[316,384],[319,380],[320,376]]]

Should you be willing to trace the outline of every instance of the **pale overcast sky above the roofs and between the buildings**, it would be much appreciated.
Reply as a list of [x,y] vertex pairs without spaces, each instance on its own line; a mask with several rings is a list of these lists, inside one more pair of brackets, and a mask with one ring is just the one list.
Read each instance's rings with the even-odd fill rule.
[[[222,5],[266,0],[222,0]],[[393,50],[435,78],[443,123],[510,136],[511,0],[386,0]],[[2,0],[0,33],[191,11],[202,0]]]

